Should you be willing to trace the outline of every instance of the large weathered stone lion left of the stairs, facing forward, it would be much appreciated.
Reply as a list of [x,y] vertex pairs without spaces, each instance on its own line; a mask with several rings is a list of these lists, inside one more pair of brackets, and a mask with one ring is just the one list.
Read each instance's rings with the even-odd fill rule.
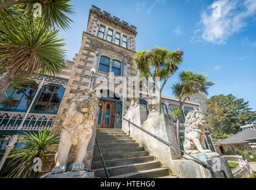
[[67,168],[70,147],[75,147],[71,171],[84,169],[83,160],[98,116],[98,98],[95,88],[85,90],[70,100],[60,134],[60,144],[55,155],[56,166],[51,173],[64,173]]

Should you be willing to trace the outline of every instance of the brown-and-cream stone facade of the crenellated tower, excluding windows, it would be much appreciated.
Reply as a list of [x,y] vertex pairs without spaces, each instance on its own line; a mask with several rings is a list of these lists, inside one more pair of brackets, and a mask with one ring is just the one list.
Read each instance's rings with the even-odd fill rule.
[[[110,26],[125,33],[129,36],[128,48],[116,45],[109,42],[106,39],[97,37],[98,27],[100,24],[104,26]],[[61,101],[60,109],[58,110],[57,118],[54,122],[54,129],[60,128],[63,122],[64,113],[67,109],[69,100],[77,93],[85,90],[90,85],[91,68],[96,69],[96,80],[94,84],[96,87],[108,87],[113,85],[114,88],[119,88],[118,94],[123,95],[123,91],[129,87],[129,84],[122,84],[123,77],[128,81],[128,77],[136,77],[137,69],[134,67],[134,53],[135,53],[135,36],[137,34],[134,26],[128,26],[126,22],[119,21],[116,17],[110,17],[106,12],[101,12],[100,9],[94,7],[90,9],[90,15],[88,19],[87,31],[82,34],[82,44],[78,54],[73,58],[73,62],[69,61],[69,66],[72,66],[72,72],[70,74],[69,84],[67,85],[63,99]],[[98,71],[98,64],[100,56],[107,56],[113,60],[113,58],[122,61],[121,77],[114,76],[113,80],[109,80],[109,73]],[[102,84],[101,78],[107,78],[109,84]],[[120,84],[121,83],[121,84]],[[122,100],[122,97],[121,97]],[[123,100],[125,110],[128,108],[131,100]]]

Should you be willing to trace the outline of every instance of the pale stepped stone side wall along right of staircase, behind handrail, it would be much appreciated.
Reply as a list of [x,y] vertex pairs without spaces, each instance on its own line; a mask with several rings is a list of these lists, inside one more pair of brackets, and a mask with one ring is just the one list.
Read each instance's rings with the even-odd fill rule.
[[[141,126],[143,129],[151,132],[159,138],[167,141],[178,147],[176,132],[173,126],[172,117],[169,114],[159,114],[148,118],[141,124],[141,110],[140,106],[133,107],[128,110],[127,114],[124,116],[125,119],[131,119],[131,122]],[[128,125],[127,121],[123,121],[122,129],[134,138],[145,150],[149,151],[150,155],[157,157],[164,167],[172,168],[171,161],[181,158],[181,153],[175,148],[169,147],[157,140],[155,137],[147,134],[146,132],[138,129],[134,125]]]

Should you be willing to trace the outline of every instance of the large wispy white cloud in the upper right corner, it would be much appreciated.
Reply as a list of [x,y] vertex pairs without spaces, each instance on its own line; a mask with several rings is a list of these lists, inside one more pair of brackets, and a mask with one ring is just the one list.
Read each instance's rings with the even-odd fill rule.
[[[212,7],[216,4],[220,5],[220,17],[216,16],[218,7]],[[193,42],[203,39],[218,45],[225,44],[232,34],[248,26],[248,18],[256,14],[255,0],[219,0],[212,5],[202,12]]]

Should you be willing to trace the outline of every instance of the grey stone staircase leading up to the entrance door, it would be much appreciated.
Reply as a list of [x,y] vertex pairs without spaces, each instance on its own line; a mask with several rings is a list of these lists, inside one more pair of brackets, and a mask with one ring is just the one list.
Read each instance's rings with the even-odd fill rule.
[[[177,178],[122,129],[97,129],[96,138],[110,178]],[[92,169],[97,178],[106,178],[96,144]]]

